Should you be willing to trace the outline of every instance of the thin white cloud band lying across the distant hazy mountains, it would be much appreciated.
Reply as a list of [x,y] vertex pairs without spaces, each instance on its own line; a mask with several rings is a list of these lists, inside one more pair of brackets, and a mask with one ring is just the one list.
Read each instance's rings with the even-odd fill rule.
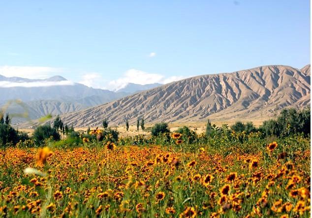
[[73,85],[73,82],[70,81],[38,81],[38,82],[9,82],[9,81],[0,81],[1,88],[10,88],[10,87],[46,87],[54,85]]

